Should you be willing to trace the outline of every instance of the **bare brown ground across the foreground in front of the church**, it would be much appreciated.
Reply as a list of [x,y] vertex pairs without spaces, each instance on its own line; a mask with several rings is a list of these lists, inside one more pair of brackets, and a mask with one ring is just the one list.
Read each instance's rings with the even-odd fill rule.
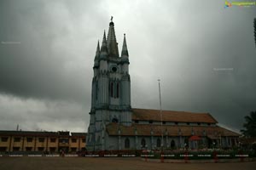
[[0,157],[0,170],[247,170],[256,169],[256,162],[236,163],[157,163],[140,158],[91,158],[91,157]]

